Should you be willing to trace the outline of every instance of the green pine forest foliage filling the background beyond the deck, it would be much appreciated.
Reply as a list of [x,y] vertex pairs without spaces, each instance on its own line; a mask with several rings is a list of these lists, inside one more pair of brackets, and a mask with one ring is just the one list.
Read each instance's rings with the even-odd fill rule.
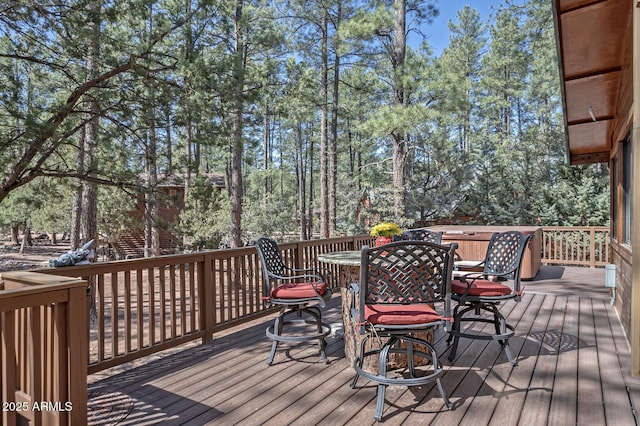
[[[234,234],[232,204],[242,210],[245,242],[309,238],[326,193],[323,113],[336,128],[328,143],[335,169],[325,170],[335,178],[336,232],[365,232],[385,219],[608,224],[607,168],[566,165],[547,1],[496,3],[486,21],[471,2],[449,23],[450,43],[437,56],[428,36],[438,2],[408,1],[402,64],[393,33],[400,1],[90,3],[101,7],[13,2],[0,16],[5,231],[68,231],[71,188],[84,180],[100,188],[100,234],[117,238],[130,226],[135,194],[154,193],[141,183],[154,168],[159,176],[227,176],[226,190],[200,177],[186,188],[173,231],[192,248]],[[89,21],[100,27],[97,79],[87,68],[96,40]],[[78,149],[89,118],[98,133],[87,170]],[[240,188],[229,180],[234,153]]]

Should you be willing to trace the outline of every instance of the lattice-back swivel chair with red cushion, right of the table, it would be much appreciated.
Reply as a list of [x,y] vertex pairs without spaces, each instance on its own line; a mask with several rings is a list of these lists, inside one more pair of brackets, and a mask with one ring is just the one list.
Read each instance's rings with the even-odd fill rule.
[[[517,364],[509,347],[509,338],[514,335],[514,326],[508,324],[499,307],[506,300],[520,301],[522,288],[520,272],[522,259],[532,235],[518,231],[507,231],[492,235],[485,259],[478,265],[482,272],[454,271],[451,282],[451,298],[458,302],[453,310],[453,328],[447,342],[451,346],[449,360],[453,361],[460,337],[480,340],[497,340],[502,345],[509,362]],[[478,266],[476,265],[476,266]],[[511,280],[511,285],[500,280]],[[489,313],[489,316],[483,315]],[[495,334],[467,331],[464,322],[493,324]]]

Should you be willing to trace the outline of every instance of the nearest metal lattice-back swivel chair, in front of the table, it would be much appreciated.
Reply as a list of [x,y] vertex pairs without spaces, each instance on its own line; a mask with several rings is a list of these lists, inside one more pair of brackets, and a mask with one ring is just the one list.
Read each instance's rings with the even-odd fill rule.
[[[360,282],[350,289],[357,296],[353,299],[359,299],[351,315],[362,337],[351,388],[360,376],[378,384],[377,421],[382,419],[387,386],[422,386],[435,381],[445,405],[451,408],[440,383],[442,364],[424,336],[435,327],[447,328],[450,322],[449,288],[456,248],[456,244],[426,241],[362,248]],[[394,365],[398,360],[399,366]]]

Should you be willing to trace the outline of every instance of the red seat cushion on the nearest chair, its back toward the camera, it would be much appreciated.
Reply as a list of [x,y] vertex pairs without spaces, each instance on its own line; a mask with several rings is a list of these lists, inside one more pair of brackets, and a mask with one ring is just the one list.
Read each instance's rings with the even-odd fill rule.
[[412,305],[365,305],[364,315],[371,324],[424,324],[441,320],[442,317],[426,303]]

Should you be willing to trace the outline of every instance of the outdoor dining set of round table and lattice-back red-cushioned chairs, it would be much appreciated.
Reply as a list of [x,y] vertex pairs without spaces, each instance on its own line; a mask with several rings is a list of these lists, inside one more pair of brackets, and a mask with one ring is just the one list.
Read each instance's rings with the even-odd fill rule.
[[[395,241],[357,252],[335,252],[318,261],[359,269],[341,283],[345,357],[354,369],[352,388],[362,377],[377,384],[375,419],[382,421],[387,386],[423,386],[435,382],[448,409],[453,406],[442,386],[441,357],[455,360],[460,339],[497,341],[508,361],[518,360],[509,346],[514,327],[500,312],[503,302],[520,301],[524,251],[532,238],[519,231],[492,235],[485,258],[460,261],[456,243],[442,243],[442,232],[404,231]],[[331,326],[322,309],[332,298],[324,270],[293,269],[277,243],[256,241],[264,276],[264,301],[280,308],[266,335],[272,340],[267,364],[279,343],[313,342],[328,363],[326,337]],[[341,260],[340,260],[341,259]],[[335,289],[334,289],[335,291]],[[473,329],[473,323],[487,323]],[[447,333],[447,348],[438,353],[434,330]],[[353,345],[353,353],[349,347]]]

